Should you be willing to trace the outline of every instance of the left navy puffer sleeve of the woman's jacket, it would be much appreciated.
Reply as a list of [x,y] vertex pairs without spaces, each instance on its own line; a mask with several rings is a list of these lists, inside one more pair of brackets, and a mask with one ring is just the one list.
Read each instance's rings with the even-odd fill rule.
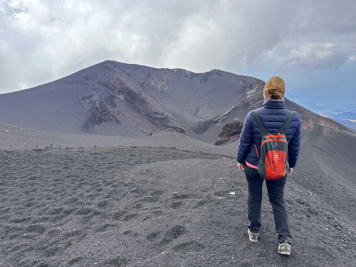
[[239,163],[243,163],[248,150],[252,145],[252,110],[248,112],[244,126],[242,126],[242,131],[239,140],[239,146],[237,147],[237,157],[236,160]]

